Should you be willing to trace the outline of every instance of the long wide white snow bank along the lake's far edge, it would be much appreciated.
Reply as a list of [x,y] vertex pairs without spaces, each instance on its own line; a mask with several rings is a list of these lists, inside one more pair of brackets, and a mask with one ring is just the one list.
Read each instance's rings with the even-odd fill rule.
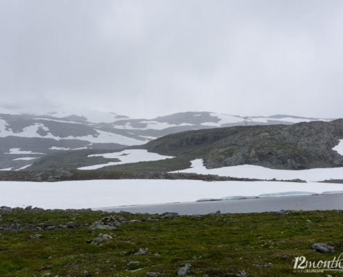
[[0,181],[0,204],[42,208],[96,208],[134,204],[193,202],[201,198],[254,196],[288,191],[342,190],[342,184],[274,181],[89,180],[49,182]]

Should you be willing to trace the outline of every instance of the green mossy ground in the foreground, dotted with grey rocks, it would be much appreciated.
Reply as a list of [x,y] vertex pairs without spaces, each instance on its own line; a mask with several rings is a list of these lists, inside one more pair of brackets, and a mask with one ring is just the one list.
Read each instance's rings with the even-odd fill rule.
[[[12,211],[1,213],[5,224],[91,224],[109,215],[102,212]],[[0,276],[177,276],[185,263],[188,276],[313,276],[294,273],[294,257],[331,260],[343,251],[343,213],[339,211],[214,214],[161,219],[157,215],[123,215],[130,222],[113,231],[87,227],[51,231],[0,232]],[[34,234],[44,235],[30,239]],[[113,236],[87,244],[99,233]],[[335,246],[335,253],[318,253],[315,242]],[[147,253],[133,255],[139,248]],[[131,263],[130,262],[139,262]],[[137,270],[138,269],[138,270]],[[340,276],[331,271],[332,276]],[[315,276],[326,276],[324,273]]]

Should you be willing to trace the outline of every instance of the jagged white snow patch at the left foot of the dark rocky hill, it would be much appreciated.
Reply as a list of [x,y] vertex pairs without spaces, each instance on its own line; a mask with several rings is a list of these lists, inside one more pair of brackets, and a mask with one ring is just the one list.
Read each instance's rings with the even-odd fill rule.
[[123,163],[138,163],[139,161],[159,161],[174,158],[171,156],[163,156],[157,153],[152,153],[148,152],[147,150],[141,149],[123,150],[121,152],[112,152],[105,154],[91,154],[88,157],[104,157],[107,159],[120,159],[121,161],[111,161],[109,163],[102,163],[94,166],[84,166],[78,169],[95,170],[98,168],[103,168],[104,166],[116,166]]

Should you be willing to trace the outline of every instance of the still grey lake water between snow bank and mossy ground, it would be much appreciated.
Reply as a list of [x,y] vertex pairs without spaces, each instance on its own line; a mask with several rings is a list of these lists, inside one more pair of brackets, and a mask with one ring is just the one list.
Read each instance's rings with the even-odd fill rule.
[[343,210],[343,193],[292,197],[234,199],[207,202],[184,202],[99,208],[103,211],[204,215],[206,213],[262,213],[280,210]]

